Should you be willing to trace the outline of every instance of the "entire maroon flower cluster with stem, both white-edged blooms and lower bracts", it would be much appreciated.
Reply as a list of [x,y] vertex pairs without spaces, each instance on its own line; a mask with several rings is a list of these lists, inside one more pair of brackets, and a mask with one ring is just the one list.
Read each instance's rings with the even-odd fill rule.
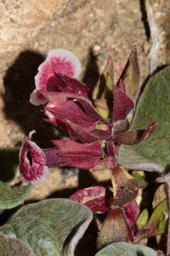
[[47,166],[55,165],[91,171],[110,169],[112,203],[111,191],[107,192],[106,188],[100,186],[77,191],[70,199],[86,204],[94,213],[108,211],[101,235],[98,236],[99,243],[103,230],[108,222],[111,223],[110,219],[119,219],[121,226],[124,226],[126,231],[120,234],[122,240],[127,240],[127,234],[131,234],[132,240],[135,232],[132,227],[137,215],[134,218],[129,216],[132,208],[138,213],[134,201],[138,187],[135,178],[118,164],[118,149],[120,144],[140,143],[157,129],[157,123],[152,123],[145,130],[128,131],[128,114],[135,110],[140,90],[136,47],[132,48],[116,83],[110,55],[93,90],[77,80],[80,73],[79,59],[63,49],[51,50],[38,68],[30,102],[43,105],[45,121],[60,127],[70,139],[55,140],[52,141],[55,146],[52,149],[40,149],[31,142],[33,132],[30,132],[21,147],[21,179],[27,183],[40,183],[47,177]]

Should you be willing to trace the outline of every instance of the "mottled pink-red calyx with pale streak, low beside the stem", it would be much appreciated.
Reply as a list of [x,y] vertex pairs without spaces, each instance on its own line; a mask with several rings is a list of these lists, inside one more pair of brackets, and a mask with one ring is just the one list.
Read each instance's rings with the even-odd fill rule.
[[106,213],[110,209],[107,203],[108,197],[106,188],[103,188],[102,186],[93,186],[77,191],[69,197],[69,200],[83,203],[95,214]]

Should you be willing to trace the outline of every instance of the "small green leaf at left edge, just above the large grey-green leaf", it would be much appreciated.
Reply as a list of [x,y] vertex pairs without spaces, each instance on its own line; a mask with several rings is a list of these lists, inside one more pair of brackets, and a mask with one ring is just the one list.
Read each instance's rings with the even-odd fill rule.
[[0,209],[11,209],[23,203],[33,186],[9,186],[0,181]]

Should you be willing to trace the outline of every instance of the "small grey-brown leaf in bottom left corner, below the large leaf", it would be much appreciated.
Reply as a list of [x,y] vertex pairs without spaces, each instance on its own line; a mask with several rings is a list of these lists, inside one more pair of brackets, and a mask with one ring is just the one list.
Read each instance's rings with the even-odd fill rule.
[[1,256],[34,256],[33,250],[26,242],[11,235],[0,235]]

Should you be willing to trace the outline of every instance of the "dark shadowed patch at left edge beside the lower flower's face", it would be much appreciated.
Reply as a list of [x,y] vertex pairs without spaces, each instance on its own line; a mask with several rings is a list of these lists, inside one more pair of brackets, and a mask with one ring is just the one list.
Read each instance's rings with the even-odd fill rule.
[[19,149],[0,149],[0,180],[10,182],[16,176],[19,164]]

